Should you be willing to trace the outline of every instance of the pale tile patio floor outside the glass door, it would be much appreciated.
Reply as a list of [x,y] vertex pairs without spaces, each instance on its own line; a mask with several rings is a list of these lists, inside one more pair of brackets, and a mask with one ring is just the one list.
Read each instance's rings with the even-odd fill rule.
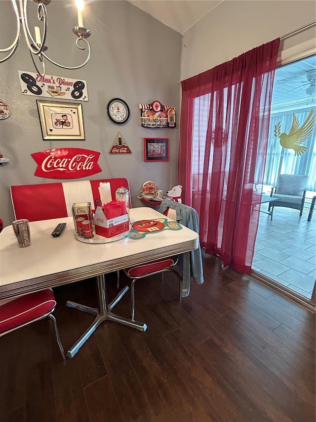
[[[298,210],[276,207],[271,221],[260,213],[252,269],[311,298],[316,279],[316,210],[307,217],[311,199],[302,217]],[[268,204],[261,205],[267,211]]]

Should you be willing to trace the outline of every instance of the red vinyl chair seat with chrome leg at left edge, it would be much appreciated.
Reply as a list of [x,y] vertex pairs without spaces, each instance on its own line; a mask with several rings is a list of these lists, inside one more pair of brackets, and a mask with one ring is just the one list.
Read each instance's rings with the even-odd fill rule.
[[65,359],[66,356],[60,341],[56,319],[53,316],[55,306],[54,293],[49,288],[19,296],[13,300],[0,301],[0,337],[15,329],[48,317],[53,324],[62,358]]

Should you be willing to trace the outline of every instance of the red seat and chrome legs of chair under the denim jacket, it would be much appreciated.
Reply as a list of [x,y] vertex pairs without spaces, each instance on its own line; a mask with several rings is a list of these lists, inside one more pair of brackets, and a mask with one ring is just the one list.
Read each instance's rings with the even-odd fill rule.
[[135,314],[135,282],[145,277],[153,276],[154,274],[163,275],[163,273],[169,271],[177,276],[179,281],[179,300],[182,300],[182,278],[180,274],[174,269],[179,260],[179,255],[168,258],[161,258],[155,261],[146,262],[145,264],[135,265],[134,267],[125,268],[124,272],[128,278],[131,279],[131,301],[132,301],[132,316],[131,319],[134,321]]

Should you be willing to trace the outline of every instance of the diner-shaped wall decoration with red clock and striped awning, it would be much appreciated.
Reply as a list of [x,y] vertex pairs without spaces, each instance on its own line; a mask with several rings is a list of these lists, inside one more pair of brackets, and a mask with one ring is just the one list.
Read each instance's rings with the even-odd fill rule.
[[151,104],[139,104],[141,110],[141,124],[144,128],[175,128],[175,107],[161,104],[155,100]]

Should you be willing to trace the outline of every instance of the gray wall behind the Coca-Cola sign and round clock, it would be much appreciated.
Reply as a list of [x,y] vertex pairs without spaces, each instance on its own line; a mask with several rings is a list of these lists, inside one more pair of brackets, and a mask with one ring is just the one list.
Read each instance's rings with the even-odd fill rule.
[[[36,11],[36,6],[31,6]],[[47,11],[48,55],[70,66],[79,64],[81,53],[75,47],[76,37],[71,31],[77,25],[73,1],[52,1]],[[37,24],[31,14],[29,20],[30,27]],[[134,207],[142,206],[137,195],[146,180],[153,180],[164,191],[178,183],[178,128],[141,127],[138,104],[158,99],[175,106],[179,122],[181,35],[127,1],[91,1],[85,8],[84,20],[91,30],[90,61],[73,71],[47,62],[46,74],[87,81],[89,101],[82,101],[85,141],[42,140],[38,97],[23,95],[20,89],[18,70],[35,72],[23,37],[13,57],[0,64],[0,98],[11,107],[11,116],[0,121],[0,149],[10,159],[0,167],[0,218],[5,226],[14,218],[9,196],[11,185],[59,181],[34,176],[37,165],[31,153],[44,149],[68,146],[100,151],[102,173],[88,179],[126,177]],[[1,0],[1,48],[11,44],[14,30],[11,2]],[[113,97],[123,98],[130,107],[131,118],[125,125],[115,125],[107,116],[106,105]],[[118,131],[130,147],[131,155],[108,154]],[[144,162],[144,137],[169,138],[170,160]]]

